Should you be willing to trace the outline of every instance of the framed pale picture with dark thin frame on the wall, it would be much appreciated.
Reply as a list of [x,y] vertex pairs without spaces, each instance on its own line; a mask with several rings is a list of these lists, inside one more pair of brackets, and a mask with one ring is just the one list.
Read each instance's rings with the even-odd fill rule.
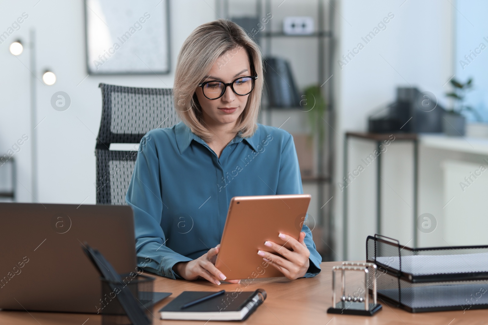
[[169,0],[85,0],[90,75],[168,74]]

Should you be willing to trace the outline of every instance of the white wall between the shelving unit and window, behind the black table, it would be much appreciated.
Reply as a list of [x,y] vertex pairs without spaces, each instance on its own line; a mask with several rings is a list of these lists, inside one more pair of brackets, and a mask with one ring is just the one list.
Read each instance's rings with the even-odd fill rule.
[[[395,99],[397,86],[415,86],[421,91],[434,93],[441,104],[445,104],[443,93],[447,90],[443,85],[453,75],[452,70],[452,5],[448,1],[422,0],[343,0],[337,3],[336,35],[336,72],[333,76],[336,87],[336,132],[344,137],[346,131],[366,131],[367,116],[381,105]],[[394,15],[386,24],[386,30],[380,31],[368,44],[361,39],[373,30],[388,13]],[[362,42],[365,47],[346,66],[339,67],[337,60]],[[332,80],[332,79],[331,79]],[[388,150],[393,152],[392,143]],[[343,173],[343,146],[341,137],[336,137],[335,157],[335,222],[338,238],[336,252],[343,256],[342,251],[342,193],[337,182]],[[357,166],[362,157],[360,144],[357,142],[349,148],[350,166]],[[370,148],[366,149],[366,152]],[[386,157],[388,153],[386,153]],[[356,160],[354,160],[356,159]],[[383,184],[383,202],[385,217],[407,218],[411,209],[399,196],[411,205],[411,183],[405,183],[405,173],[411,172],[408,162],[411,161],[411,150],[399,148],[394,160],[385,159]],[[405,162],[398,165],[395,161]],[[370,166],[372,170],[376,166]],[[368,167],[368,168],[370,168]],[[356,198],[360,195],[361,206],[350,202],[349,224],[359,225],[375,223],[375,171],[374,175],[360,175],[356,182],[359,187]],[[363,177],[364,176],[364,177]],[[395,193],[395,191],[397,193]],[[350,197],[352,193],[350,194]],[[358,201],[359,202],[359,201]],[[419,207],[421,211],[422,207]],[[412,218],[412,217],[409,217]],[[366,219],[366,220],[364,220]],[[361,221],[360,221],[361,220]],[[360,223],[359,223],[360,222]],[[389,221],[385,220],[385,225]],[[398,223],[402,225],[402,222]],[[350,243],[348,259],[365,258],[365,241],[372,235],[374,228],[356,227],[349,233]],[[391,227],[386,228],[392,229]],[[401,236],[402,244],[407,244],[407,234],[403,234],[401,226],[394,227],[392,236]],[[410,229],[406,229],[410,231]],[[384,233],[388,235],[388,233]],[[410,243],[411,244],[411,243]]]

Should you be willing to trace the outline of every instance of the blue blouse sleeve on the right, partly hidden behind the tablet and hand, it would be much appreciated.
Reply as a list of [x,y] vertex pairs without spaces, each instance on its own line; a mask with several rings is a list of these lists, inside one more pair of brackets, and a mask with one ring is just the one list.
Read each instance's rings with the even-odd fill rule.
[[[276,194],[303,194],[302,175],[298,164],[298,156],[295,149],[293,136],[290,134],[281,153],[280,172],[278,176],[278,187]],[[308,218],[308,215],[307,215]],[[310,251],[310,266],[305,278],[316,276],[321,271],[319,264],[322,263],[322,256],[315,247],[312,239],[312,232],[308,226],[303,224],[302,231],[305,232],[305,245]]]

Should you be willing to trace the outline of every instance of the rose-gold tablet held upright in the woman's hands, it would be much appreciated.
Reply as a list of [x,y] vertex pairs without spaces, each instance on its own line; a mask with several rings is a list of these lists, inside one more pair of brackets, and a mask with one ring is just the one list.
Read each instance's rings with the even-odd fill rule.
[[280,232],[298,240],[310,197],[310,194],[234,196],[215,267],[228,280],[284,276],[266,263],[258,250],[277,254],[264,246],[266,240],[285,244],[283,249],[289,249],[290,245],[278,237]]

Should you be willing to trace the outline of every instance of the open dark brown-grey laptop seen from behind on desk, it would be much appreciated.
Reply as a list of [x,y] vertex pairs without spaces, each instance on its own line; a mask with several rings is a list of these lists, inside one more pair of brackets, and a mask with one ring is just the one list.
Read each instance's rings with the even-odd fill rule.
[[[85,242],[119,274],[143,272],[129,206],[0,203],[0,308],[99,313],[102,284]],[[171,293],[149,294],[150,306]]]

